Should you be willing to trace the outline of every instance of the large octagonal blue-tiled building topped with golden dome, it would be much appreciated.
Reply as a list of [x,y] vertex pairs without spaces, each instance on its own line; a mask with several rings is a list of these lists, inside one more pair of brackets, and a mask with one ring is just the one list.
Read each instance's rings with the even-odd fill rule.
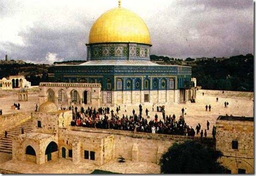
[[121,3],[99,16],[88,42],[87,62],[50,67],[50,82],[100,83],[101,103],[108,106],[195,99],[191,67],[151,62],[147,25]]

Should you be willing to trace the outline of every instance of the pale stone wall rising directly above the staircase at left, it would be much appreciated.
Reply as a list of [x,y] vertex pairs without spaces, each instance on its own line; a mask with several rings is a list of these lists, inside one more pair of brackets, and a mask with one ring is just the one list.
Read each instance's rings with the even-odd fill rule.
[[15,113],[0,116],[0,133],[31,119],[31,113]]

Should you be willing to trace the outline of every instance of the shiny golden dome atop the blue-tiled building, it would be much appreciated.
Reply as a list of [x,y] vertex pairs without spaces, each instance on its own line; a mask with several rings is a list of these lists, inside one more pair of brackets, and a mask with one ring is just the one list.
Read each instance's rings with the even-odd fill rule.
[[134,12],[114,8],[103,13],[92,25],[89,44],[131,42],[151,45],[148,27]]

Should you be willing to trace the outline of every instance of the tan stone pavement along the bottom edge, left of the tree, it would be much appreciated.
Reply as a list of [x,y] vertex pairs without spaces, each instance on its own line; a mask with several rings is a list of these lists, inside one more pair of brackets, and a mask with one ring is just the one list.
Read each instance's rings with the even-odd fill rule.
[[[1,156],[1,155],[0,155]],[[37,165],[28,161],[7,161],[0,164],[0,169],[25,174],[90,174],[94,170],[105,170],[122,174],[160,174],[159,165],[155,163],[132,162],[118,163],[111,161],[98,167],[89,163],[73,163],[72,160],[59,158],[55,161]]]

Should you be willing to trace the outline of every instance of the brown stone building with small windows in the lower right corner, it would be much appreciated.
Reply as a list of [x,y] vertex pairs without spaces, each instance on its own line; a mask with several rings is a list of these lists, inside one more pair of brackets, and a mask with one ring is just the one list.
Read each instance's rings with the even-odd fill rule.
[[222,165],[231,174],[254,174],[254,117],[220,116],[216,125]]

